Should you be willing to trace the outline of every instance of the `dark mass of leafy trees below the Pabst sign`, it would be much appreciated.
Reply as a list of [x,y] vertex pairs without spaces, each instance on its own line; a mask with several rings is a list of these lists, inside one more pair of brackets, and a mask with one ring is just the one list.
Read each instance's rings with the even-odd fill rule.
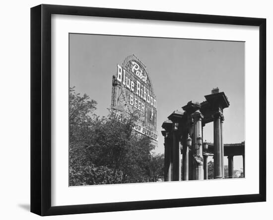
[[137,137],[136,116],[116,120],[94,114],[97,102],[69,90],[69,185],[137,183],[163,177],[163,155]]

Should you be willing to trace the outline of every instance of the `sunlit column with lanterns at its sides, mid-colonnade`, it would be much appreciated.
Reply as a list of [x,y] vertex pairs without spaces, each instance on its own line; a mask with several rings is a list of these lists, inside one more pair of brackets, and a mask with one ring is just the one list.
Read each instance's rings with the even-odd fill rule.
[[202,146],[202,119],[204,116],[200,110],[196,110],[192,117],[194,119],[193,151],[194,151],[194,179],[204,179],[203,169],[203,146]]

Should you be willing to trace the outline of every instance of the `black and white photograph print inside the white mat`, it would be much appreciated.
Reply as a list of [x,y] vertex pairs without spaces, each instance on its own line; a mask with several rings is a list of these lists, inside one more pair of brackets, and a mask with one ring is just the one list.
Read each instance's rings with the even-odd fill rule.
[[247,178],[244,41],[69,33],[68,59],[69,187]]

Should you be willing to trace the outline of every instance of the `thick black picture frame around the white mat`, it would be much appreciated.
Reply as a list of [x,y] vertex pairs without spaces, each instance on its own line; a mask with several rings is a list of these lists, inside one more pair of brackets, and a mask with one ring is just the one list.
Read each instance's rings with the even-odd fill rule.
[[[259,193],[70,206],[51,205],[51,15],[85,15],[259,27]],[[266,19],[41,4],[31,8],[31,212],[41,216],[266,201]]]

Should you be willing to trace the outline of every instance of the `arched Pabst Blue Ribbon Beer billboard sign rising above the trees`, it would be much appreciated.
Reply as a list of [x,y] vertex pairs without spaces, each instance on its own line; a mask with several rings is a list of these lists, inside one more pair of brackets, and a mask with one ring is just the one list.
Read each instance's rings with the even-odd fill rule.
[[135,131],[157,141],[156,96],[145,65],[135,55],[117,64],[112,81],[111,111],[128,117],[137,113]]

